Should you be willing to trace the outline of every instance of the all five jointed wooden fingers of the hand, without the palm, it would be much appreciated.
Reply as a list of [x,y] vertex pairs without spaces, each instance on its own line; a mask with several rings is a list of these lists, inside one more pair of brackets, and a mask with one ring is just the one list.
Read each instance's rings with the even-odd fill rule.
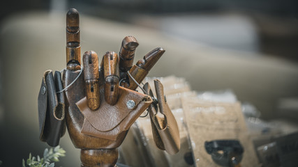
[[[68,70],[80,69],[80,25],[78,12],[70,9],[66,16],[66,59]],[[126,36],[121,43],[119,55],[107,51],[98,67],[98,55],[95,51],[86,51],[83,56],[84,80],[88,106],[92,110],[100,106],[100,85],[105,87],[105,101],[117,103],[119,86],[135,90],[149,70],[155,65],[165,50],[158,47],[150,51],[142,60],[133,65],[135,49],[139,43],[133,36]],[[128,75],[128,72],[131,75]],[[133,79],[131,78],[133,77]],[[135,81],[137,83],[135,83]],[[119,82],[121,83],[119,84]]]

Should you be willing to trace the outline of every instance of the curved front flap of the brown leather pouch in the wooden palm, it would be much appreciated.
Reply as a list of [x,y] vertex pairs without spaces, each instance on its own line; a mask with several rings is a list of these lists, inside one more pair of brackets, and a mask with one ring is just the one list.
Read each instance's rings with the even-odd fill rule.
[[[142,93],[137,93],[123,87],[119,87],[119,99],[117,104],[111,106],[105,102],[104,88],[100,87],[100,107],[92,111],[87,105],[87,98],[77,102],[77,107],[80,109],[85,118],[90,124],[100,132],[108,132],[117,127],[131,111],[133,111],[140,102],[148,99],[149,96]],[[128,101],[133,100],[135,105],[132,109],[128,109],[126,105]],[[131,101],[132,102],[132,101]]]

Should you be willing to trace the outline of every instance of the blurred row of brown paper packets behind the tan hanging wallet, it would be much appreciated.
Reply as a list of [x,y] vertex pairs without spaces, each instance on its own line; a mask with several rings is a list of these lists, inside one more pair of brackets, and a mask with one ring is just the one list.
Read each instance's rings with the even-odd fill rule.
[[[177,154],[170,155],[156,147],[149,114],[145,111],[119,148],[119,164],[216,167],[219,165],[204,148],[205,142],[215,140],[239,141],[244,148],[241,166],[272,166],[278,161],[268,161],[264,149],[269,144],[271,150],[278,150],[272,148],[276,143],[270,143],[273,138],[288,134],[278,127],[283,124],[261,120],[260,112],[252,104],[241,105],[232,90],[195,92],[185,79],[174,76],[144,79],[143,83],[149,82],[154,93],[154,79],[163,83],[167,104],[178,123],[181,148]],[[283,157],[278,153],[273,156]]]

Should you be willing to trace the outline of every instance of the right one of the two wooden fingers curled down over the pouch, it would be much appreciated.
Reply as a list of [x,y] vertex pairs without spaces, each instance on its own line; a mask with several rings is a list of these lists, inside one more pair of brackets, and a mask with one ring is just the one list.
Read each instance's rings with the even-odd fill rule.
[[119,58],[114,51],[103,56],[103,75],[105,77],[105,101],[114,105],[119,95]]

